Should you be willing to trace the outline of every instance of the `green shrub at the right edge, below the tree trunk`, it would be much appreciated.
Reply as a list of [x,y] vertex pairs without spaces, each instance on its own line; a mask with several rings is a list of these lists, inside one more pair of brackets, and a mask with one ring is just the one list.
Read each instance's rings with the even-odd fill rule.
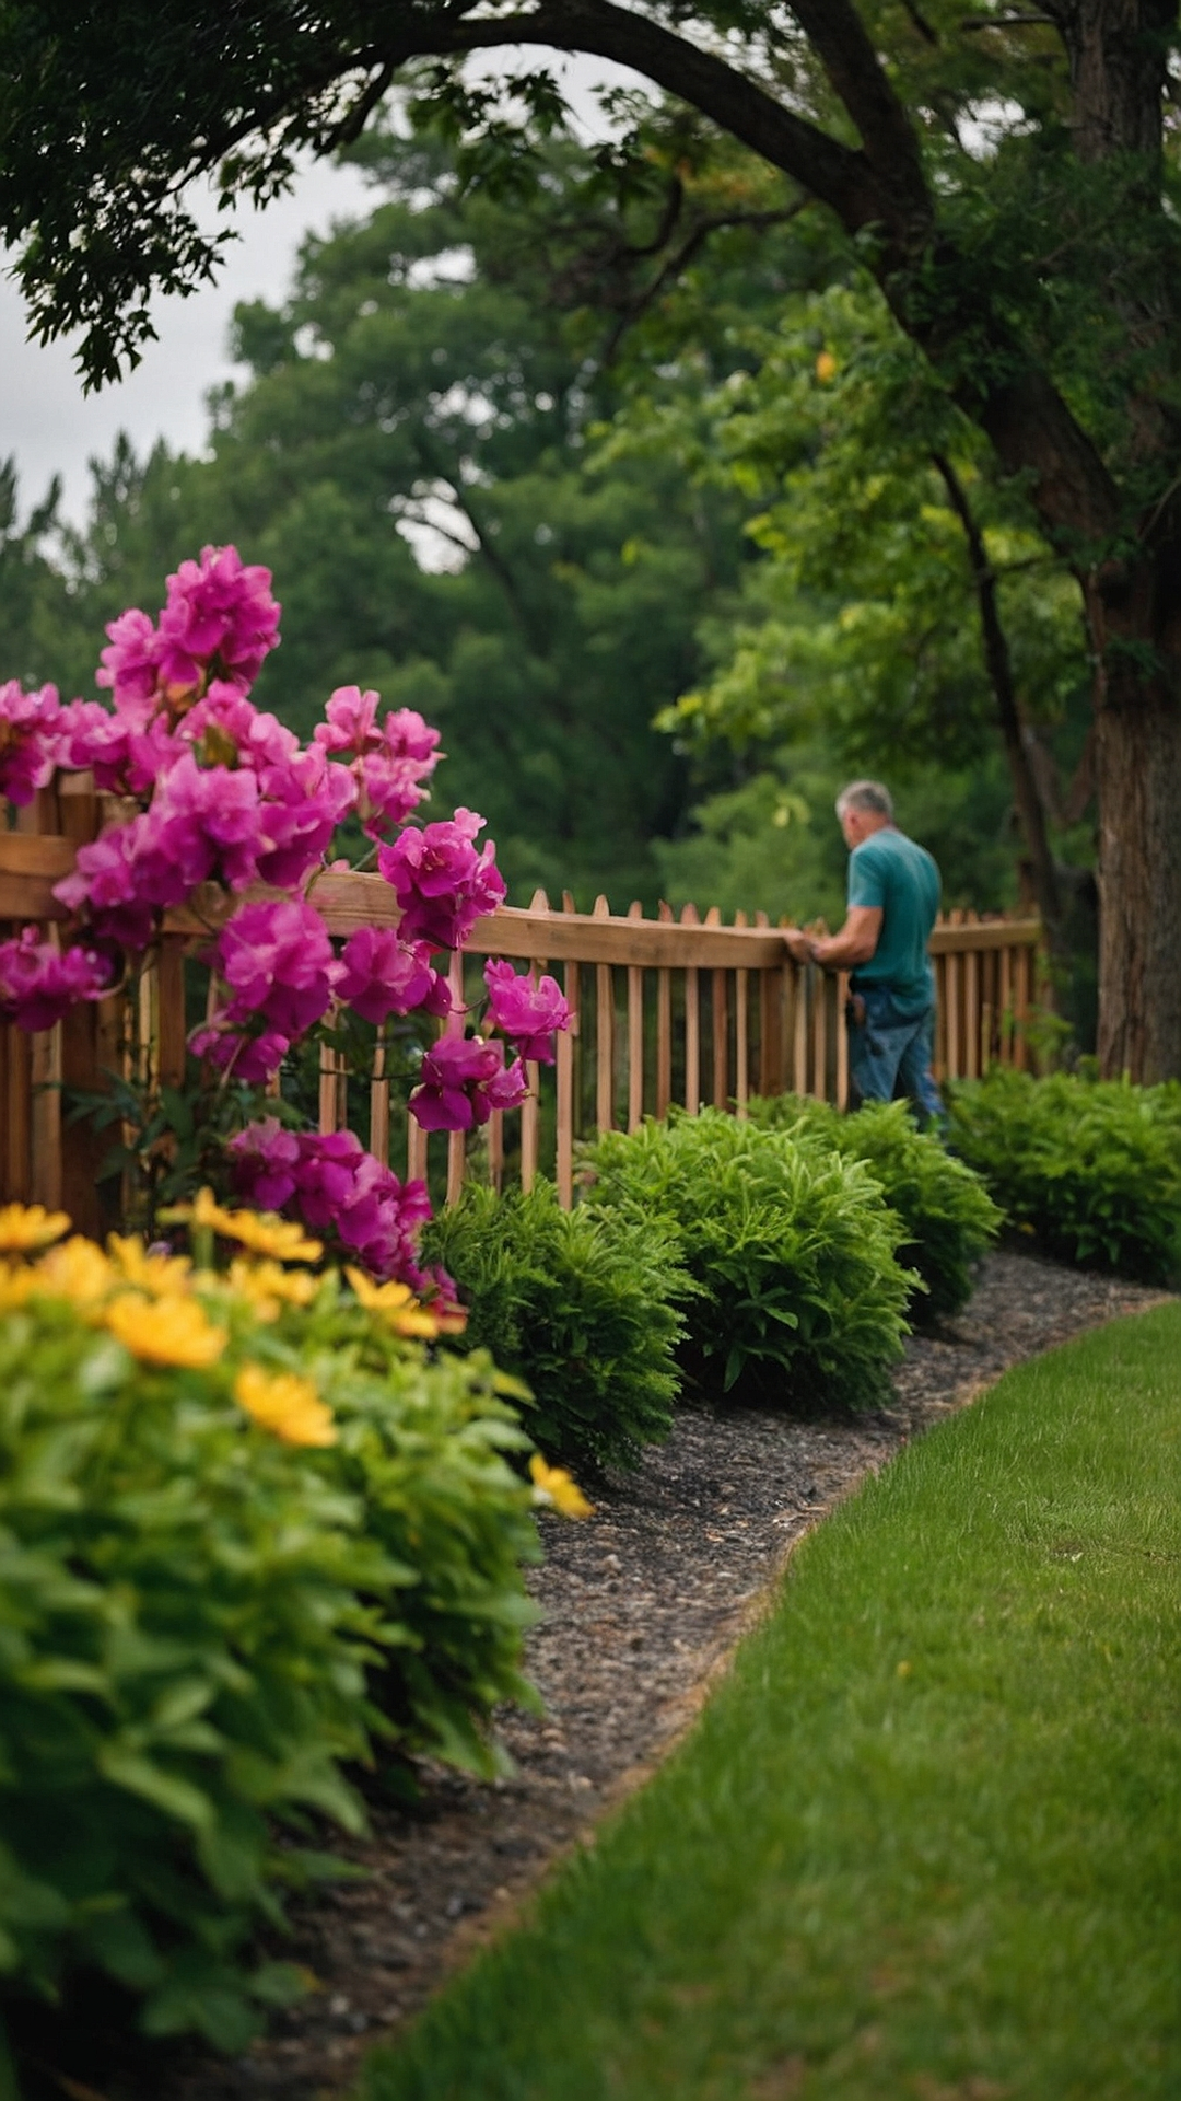
[[1181,1088],[994,1067],[950,1090],[950,1141],[1047,1254],[1170,1284],[1181,1269]]

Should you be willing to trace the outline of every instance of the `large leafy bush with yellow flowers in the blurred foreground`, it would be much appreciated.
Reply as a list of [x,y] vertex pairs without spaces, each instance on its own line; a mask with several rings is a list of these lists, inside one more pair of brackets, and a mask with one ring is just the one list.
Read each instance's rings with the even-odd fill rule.
[[490,1769],[527,1696],[527,1439],[397,1286],[118,1250],[0,1261],[0,1992],[99,1971],[242,2048],[303,1988],[244,1950],[309,1815],[364,1822],[343,1763]]

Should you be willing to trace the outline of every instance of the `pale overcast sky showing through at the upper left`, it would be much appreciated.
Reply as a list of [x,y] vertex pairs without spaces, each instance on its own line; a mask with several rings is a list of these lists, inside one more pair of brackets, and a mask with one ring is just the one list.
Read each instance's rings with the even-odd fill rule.
[[[601,130],[595,80],[635,78],[597,59],[565,61],[563,74],[578,116],[595,130]],[[0,460],[17,458],[21,513],[61,473],[63,508],[78,519],[88,490],[86,460],[105,458],[118,431],[128,433],[137,452],[145,452],[156,437],[166,437],[177,450],[200,452],[206,393],[233,372],[227,338],[237,300],[277,303],[305,233],[326,233],[334,219],[355,216],[372,202],[372,189],[353,168],[313,164],[288,197],[263,212],[240,210],[233,223],[242,240],[229,248],[216,284],[191,298],[158,300],[153,319],[160,340],[147,345],[130,378],[97,395],[82,393],[69,342],[48,349],[27,342],[17,286],[0,277]]]

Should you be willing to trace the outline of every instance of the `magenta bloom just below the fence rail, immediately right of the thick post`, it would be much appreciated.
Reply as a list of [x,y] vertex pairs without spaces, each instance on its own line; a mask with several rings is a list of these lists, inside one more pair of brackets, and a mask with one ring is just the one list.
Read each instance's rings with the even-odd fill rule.
[[231,992],[231,1027],[258,1017],[290,1042],[328,1011],[340,966],[319,912],[303,897],[284,897],[242,906],[225,922],[214,969]]

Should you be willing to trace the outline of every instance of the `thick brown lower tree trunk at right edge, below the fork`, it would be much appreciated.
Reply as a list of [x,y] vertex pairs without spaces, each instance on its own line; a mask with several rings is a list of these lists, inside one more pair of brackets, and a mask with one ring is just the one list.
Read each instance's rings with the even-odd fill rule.
[[1099,1067],[1181,1076],[1181,635],[1177,550],[1095,580]]

